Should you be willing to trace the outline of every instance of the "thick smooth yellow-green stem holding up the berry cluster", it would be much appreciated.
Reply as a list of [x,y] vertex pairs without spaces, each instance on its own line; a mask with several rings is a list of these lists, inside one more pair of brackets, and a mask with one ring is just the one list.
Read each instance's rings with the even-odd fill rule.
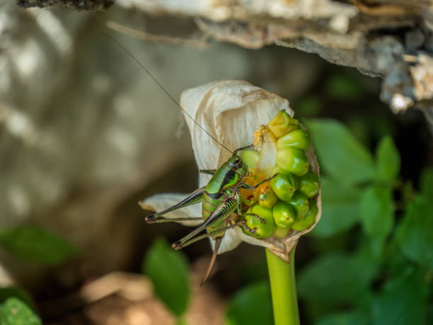
[[290,263],[266,249],[275,325],[299,325],[298,300],[294,276],[294,249]]

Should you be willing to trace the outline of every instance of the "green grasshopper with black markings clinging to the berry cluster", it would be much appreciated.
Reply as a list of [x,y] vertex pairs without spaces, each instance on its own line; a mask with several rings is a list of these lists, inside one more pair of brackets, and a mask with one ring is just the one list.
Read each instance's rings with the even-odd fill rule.
[[[243,178],[248,176],[248,166],[242,161],[241,157],[238,156],[238,152],[250,147],[252,146],[250,145],[236,149],[233,152],[233,155],[216,171],[209,169],[200,170],[200,173],[212,175],[212,178],[206,186],[195,190],[188,195],[187,198],[173,205],[172,207],[168,207],[166,210],[146,217],[146,222],[149,223],[203,221],[200,226],[192,230],[192,232],[184,236],[182,239],[176,241],[172,245],[173,249],[178,250],[195,243],[195,241],[199,241],[200,239],[207,237],[211,237],[215,240],[214,253],[212,254],[212,259],[209,263],[209,268],[207,269],[207,273],[204,276],[202,284],[207,280],[209,273],[212,270],[217,258],[219,245],[221,244],[221,240],[224,237],[226,230],[236,226],[246,227],[246,220],[244,219],[246,215],[252,215],[253,217],[260,219],[261,222],[264,222],[264,220],[258,215],[242,212],[241,188],[255,190],[262,185],[262,183],[270,181],[276,175],[270,178],[265,178],[254,186],[250,186],[243,181]],[[202,217],[187,217],[177,219],[160,218],[168,212],[197,203],[202,203]],[[235,211],[237,212],[237,215],[239,216],[238,219],[240,219],[240,221],[236,220],[236,222],[231,223],[229,222],[228,218]],[[207,230],[207,233],[197,236],[197,234],[200,234],[200,232],[203,232],[204,230]],[[254,230],[250,229],[250,231],[253,232]]]

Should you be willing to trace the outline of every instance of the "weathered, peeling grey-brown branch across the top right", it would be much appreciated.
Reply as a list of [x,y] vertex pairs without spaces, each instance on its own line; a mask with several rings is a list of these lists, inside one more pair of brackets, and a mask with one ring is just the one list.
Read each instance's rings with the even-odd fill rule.
[[122,1],[154,15],[196,17],[203,33],[258,49],[276,44],[383,78],[395,113],[433,107],[433,1]]

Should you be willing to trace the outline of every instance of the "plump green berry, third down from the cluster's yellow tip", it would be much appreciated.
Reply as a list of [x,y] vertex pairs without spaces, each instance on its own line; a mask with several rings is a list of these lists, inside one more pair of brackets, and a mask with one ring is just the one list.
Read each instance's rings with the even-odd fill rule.
[[296,176],[304,176],[308,172],[309,162],[301,149],[285,148],[277,151],[277,165]]

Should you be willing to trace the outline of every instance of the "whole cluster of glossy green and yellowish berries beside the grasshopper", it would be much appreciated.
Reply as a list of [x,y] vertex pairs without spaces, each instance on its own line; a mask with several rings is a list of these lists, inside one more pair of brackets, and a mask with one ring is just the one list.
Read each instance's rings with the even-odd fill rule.
[[[245,214],[243,231],[258,238],[284,237],[291,229],[301,232],[315,222],[318,213],[319,178],[311,171],[306,156],[311,146],[308,132],[285,110],[267,127],[277,139],[274,178],[260,189],[258,198],[244,201],[250,207]],[[257,165],[258,159],[252,150],[246,151],[243,159],[253,165],[253,169]]]

